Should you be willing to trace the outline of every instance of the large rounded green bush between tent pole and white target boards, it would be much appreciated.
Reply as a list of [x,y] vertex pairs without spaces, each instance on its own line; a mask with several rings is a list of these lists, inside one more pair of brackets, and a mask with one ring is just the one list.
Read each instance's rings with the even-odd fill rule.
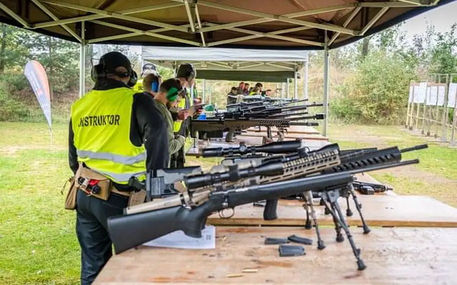
[[400,124],[413,79],[413,70],[401,58],[371,53],[339,88],[331,112],[346,123]]

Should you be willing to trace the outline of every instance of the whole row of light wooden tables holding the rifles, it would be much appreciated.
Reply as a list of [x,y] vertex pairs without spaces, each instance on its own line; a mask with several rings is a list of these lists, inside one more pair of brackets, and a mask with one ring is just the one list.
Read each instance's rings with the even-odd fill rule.
[[[314,128],[293,127],[290,129],[299,136],[319,136]],[[240,140],[248,145],[262,143],[261,136],[237,136],[232,143],[213,141],[203,147],[233,147]],[[330,143],[306,142],[314,148]],[[198,147],[191,147],[187,154],[198,154]],[[367,174],[356,176],[359,181],[377,183]],[[335,241],[333,220],[324,214],[318,199],[314,205],[326,245],[323,251],[316,249],[315,229],[304,229],[306,213],[302,203],[280,200],[278,219],[273,221],[264,221],[263,207],[252,204],[236,207],[228,219],[218,214],[210,216],[207,224],[216,226],[216,249],[141,246],[113,256],[93,284],[457,284],[456,208],[427,196],[396,196],[392,191],[358,194],[357,198],[371,232],[362,233],[352,199],[353,216],[345,219],[367,266],[362,272],[357,271],[346,236],[343,234],[343,243]],[[346,199],[340,198],[339,203],[345,214]],[[279,257],[277,245],[264,245],[265,237],[286,238],[293,234],[313,240],[313,245],[304,245],[305,256]],[[256,272],[243,272],[245,269]]]

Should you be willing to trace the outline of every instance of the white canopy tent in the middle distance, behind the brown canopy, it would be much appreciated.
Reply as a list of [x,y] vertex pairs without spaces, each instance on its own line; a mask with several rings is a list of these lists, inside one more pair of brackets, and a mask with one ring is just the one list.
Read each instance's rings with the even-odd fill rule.
[[303,68],[303,98],[308,98],[306,50],[146,46],[142,58],[173,70],[185,62],[194,64],[197,77],[203,79],[204,100],[206,79],[282,82],[283,86],[287,82],[288,86],[289,78],[294,78],[293,97],[298,98],[298,72]]

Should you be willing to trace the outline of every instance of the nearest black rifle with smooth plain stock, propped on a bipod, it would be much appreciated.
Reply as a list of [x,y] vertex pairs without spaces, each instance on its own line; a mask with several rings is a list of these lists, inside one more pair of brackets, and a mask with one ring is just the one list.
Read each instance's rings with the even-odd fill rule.
[[[332,199],[334,191],[335,189],[346,187],[348,184],[352,183],[354,181],[352,174],[354,173],[418,162],[419,160],[417,159],[409,160],[364,167],[362,170],[347,170],[339,173],[315,175],[312,177],[273,182],[264,185],[251,185],[241,188],[220,187],[213,191],[208,191],[207,194],[200,192],[200,195],[207,195],[207,197],[202,199],[203,201],[199,204],[194,203],[192,197],[190,197],[191,201],[189,204],[184,202],[186,201],[184,197],[185,194],[182,193],[180,194],[181,203],[179,205],[170,205],[169,207],[160,209],[108,218],[108,232],[114,244],[116,254],[178,230],[183,231],[187,236],[201,238],[206,220],[214,212],[222,212],[226,209],[233,209],[236,206],[258,200],[274,199],[281,196],[313,190],[322,192],[324,193],[323,195],[327,196],[328,199],[326,201],[328,201],[328,203],[326,203],[325,206],[330,209],[333,215],[337,234],[341,229],[345,231],[351,244],[353,254],[357,259],[358,269],[364,270],[366,266],[360,258],[360,249],[354,244],[352,235],[338,203]],[[278,171],[282,166],[281,162],[277,162],[276,165],[274,165],[274,163],[268,163],[268,168],[272,172]],[[240,176],[239,171],[239,169],[234,168],[228,171],[229,173],[220,173],[221,175],[212,175],[209,173],[205,177],[200,176],[198,178],[193,178],[192,182],[188,180],[188,186],[201,187],[202,185],[218,184],[221,181],[221,176]],[[253,169],[247,169],[245,173],[253,173],[254,176],[256,175],[256,172],[253,171]],[[247,175],[249,176],[249,174]]]

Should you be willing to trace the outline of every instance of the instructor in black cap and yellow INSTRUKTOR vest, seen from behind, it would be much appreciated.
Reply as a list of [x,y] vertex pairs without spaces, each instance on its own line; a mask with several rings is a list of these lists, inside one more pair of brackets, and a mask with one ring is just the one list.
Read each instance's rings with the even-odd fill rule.
[[144,201],[131,177],[144,180],[169,158],[164,118],[151,96],[132,90],[137,76],[128,58],[108,52],[91,75],[95,86],[71,106],[69,128],[81,285],[92,284],[112,255],[108,217]]

